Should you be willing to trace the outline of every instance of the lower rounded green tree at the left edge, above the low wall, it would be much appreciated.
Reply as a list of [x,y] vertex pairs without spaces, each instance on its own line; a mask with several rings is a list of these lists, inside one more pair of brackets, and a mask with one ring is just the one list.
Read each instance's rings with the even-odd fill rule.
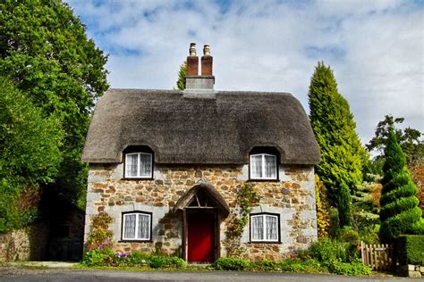
[[0,232],[20,228],[33,214],[22,193],[53,181],[64,132],[13,83],[0,77]]

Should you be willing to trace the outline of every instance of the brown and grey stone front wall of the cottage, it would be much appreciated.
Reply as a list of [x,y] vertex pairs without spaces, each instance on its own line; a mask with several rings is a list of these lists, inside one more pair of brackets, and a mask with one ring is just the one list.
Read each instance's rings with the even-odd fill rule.
[[[87,194],[85,238],[90,220],[99,211],[114,219],[114,249],[129,252],[158,250],[168,254],[182,252],[182,215],[174,213],[174,204],[200,178],[211,183],[225,198],[231,212],[236,212],[235,198],[239,187],[248,180],[247,165],[156,165],[154,179],[123,178],[123,164],[91,164]],[[280,215],[281,244],[249,243],[249,228],[242,236],[242,247],[252,260],[278,260],[310,242],[317,240],[314,171],[311,166],[280,166],[279,181],[252,182],[261,196],[259,206],[252,212],[273,212]],[[123,211],[152,212],[152,242],[121,241]],[[231,217],[231,216],[230,216]],[[221,255],[226,255],[225,231],[229,218],[220,226]]]

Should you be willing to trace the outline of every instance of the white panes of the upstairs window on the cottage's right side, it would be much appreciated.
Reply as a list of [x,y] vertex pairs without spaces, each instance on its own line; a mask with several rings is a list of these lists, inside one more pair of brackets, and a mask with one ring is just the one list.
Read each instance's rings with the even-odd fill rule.
[[250,154],[251,179],[276,179],[276,155],[269,153]]

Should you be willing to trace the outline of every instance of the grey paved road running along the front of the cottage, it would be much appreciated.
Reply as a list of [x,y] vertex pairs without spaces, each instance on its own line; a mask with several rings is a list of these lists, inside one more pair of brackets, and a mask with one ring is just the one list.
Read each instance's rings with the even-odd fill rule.
[[0,267],[0,281],[405,281],[408,278],[352,278],[335,275],[233,271],[27,270]]

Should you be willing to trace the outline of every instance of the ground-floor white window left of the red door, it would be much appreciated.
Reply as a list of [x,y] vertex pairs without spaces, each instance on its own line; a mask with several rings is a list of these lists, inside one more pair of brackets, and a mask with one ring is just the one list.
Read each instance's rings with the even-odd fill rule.
[[151,213],[123,213],[123,240],[150,240]]

